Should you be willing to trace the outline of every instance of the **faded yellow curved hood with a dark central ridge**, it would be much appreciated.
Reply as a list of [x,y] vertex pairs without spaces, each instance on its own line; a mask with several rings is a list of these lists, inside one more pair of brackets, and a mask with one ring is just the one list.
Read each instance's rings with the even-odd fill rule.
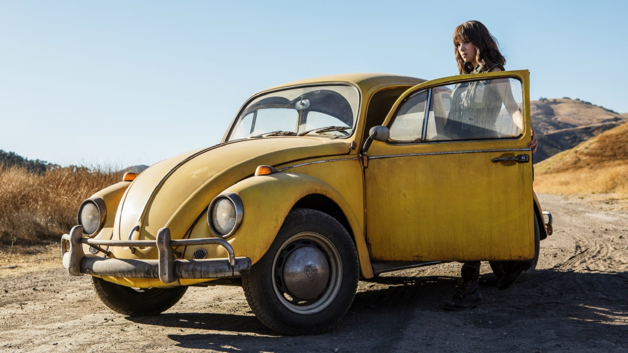
[[349,151],[347,143],[334,139],[277,137],[217,144],[160,161],[127,189],[116,212],[113,239],[128,239],[136,225],[139,230],[131,239],[154,239],[166,226],[173,239],[181,239],[214,197],[251,176],[257,166]]

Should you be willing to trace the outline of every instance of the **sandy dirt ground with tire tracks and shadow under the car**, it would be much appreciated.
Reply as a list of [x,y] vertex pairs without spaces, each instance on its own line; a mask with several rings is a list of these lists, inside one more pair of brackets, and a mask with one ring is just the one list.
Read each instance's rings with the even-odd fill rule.
[[460,268],[441,264],[360,281],[335,328],[281,337],[257,321],[239,287],[190,288],[162,315],[124,317],[100,303],[88,276],[70,277],[58,262],[5,259],[0,352],[627,352],[628,210],[539,198],[556,232],[541,242],[534,278],[498,291],[483,264],[475,310],[441,309]]

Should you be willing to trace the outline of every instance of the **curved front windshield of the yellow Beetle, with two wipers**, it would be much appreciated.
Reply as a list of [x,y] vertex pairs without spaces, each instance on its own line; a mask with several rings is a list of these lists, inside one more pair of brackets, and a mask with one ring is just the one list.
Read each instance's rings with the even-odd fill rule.
[[264,94],[241,111],[227,141],[264,136],[353,133],[359,92],[348,85],[299,87]]

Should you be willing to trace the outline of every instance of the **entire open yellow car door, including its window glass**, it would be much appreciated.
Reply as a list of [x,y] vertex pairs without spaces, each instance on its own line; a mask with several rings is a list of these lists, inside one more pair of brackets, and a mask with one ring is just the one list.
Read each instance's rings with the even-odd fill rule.
[[373,260],[534,258],[528,70],[416,85],[384,126],[365,152]]

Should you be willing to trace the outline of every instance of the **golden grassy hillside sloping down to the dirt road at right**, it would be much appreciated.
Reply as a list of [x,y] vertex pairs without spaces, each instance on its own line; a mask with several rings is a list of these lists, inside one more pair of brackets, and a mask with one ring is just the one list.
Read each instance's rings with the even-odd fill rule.
[[628,123],[598,134],[534,166],[541,193],[628,196]]

